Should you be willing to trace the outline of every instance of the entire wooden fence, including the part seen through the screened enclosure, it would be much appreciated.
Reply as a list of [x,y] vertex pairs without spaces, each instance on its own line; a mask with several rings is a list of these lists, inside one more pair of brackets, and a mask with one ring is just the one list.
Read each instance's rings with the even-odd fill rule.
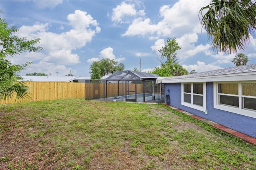
[[[68,83],[68,82],[35,82],[26,81],[25,84],[30,87],[30,97],[26,100],[16,100],[16,103],[27,101],[46,101],[67,98],[87,97],[87,99],[103,98],[103,83],[98,83],[98,87],[94,87],[95,83]],[[118,96],[118,83],[108,83],[108,97]],[[106,87],[105,87],[106,88]],[[128,90],[128,85],[126,87]],[[85,91],[86,90],[86,91]],[[119,95],[122,95],[125,85],[119,84]],[[135,91],[135,84],[129,84],[129,91]],[[106,93],[106,91],[105,91]],[[135,92],[134,92],[135,93]],[[129,93],[129,94],[134,94]],[[143,93],[143,85],[137,84],[137,93]],[[106,94],[105,94],[106,97]],[[14,103],[14,99],[2,100],[0,104]]]

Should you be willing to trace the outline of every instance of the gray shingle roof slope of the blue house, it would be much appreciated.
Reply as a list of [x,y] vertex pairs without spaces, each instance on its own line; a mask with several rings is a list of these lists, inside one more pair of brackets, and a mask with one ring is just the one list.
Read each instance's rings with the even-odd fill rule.
[[236,74],[236,73],[249,73],[249,72],[255,72],[255,71],[256,71],[256,64],[250,64],[250,65],[240,65],[236,67],[229,67],[224,69],[218,69],[218,70],[212,70],[212,71],[206,71],[206,72],[194,73],[194,74],[188,74],[188,75],[165,77],[162,80],[208,77],[208,76],[228,75],[228,74]]

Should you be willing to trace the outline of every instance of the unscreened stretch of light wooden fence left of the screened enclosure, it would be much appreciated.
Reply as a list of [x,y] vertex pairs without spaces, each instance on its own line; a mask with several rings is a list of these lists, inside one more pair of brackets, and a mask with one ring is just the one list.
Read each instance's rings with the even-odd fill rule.
[[[16,102],[18,103],[85,97],[85,83],[35,81],[26,81],[25,83],[30,87],[30,97],[27,100],[17,100]],[[14,102],[14,99],[8,99],[6,101],[0,101],[0,104]]]

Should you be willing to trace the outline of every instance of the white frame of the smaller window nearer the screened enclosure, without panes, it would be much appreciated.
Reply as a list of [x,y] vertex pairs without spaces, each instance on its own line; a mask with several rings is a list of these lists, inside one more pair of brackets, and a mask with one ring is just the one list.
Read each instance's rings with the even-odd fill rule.
[[[193,84],[203,84],[203,95],[193,94]],[[191,84],[191,103],[184,102],[184,84]],[[188,93],[185,93],[188,94]],[[193,104],[193,95],[203,96],[203,106]],[[181,105],[199,110],[206,111],[206,82],[181,83]]]

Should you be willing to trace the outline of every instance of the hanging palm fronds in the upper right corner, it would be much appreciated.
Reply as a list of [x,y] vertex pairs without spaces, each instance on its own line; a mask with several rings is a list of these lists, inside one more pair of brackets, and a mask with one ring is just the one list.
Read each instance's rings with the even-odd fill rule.
[[212,49],[228,53],[244,49],[256,30],[255,11],[255,0],[212,0],[201,8],[202,28],[213,40]]

